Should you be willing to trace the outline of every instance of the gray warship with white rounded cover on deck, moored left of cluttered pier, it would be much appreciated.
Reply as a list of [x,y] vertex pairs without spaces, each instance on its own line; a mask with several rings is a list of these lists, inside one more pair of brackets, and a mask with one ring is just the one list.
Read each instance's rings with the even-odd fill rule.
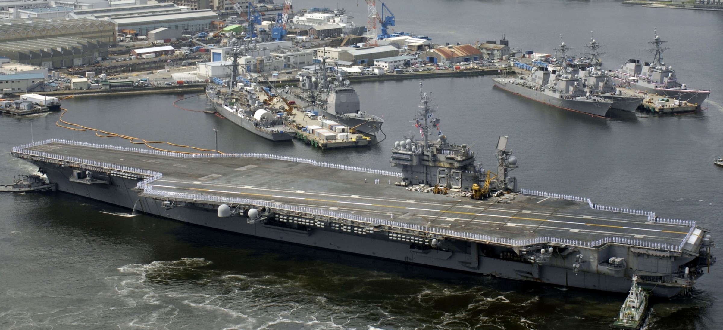
[[294,137],[286,132],[286,114],[282,111],[288,108],[281,97],[267,92],[258,84],[251,84],[249,81],[249,84],[239,86],[239,80],[242,80],[238,61],[241,48],[236,39],[231,41],[231,45],[234,47],[231,80],[225,89],[222,86],[213,86],[214,81],[209,81],[206,89],[206,96],[213,108],[226,119],[262,138],[290,141]]

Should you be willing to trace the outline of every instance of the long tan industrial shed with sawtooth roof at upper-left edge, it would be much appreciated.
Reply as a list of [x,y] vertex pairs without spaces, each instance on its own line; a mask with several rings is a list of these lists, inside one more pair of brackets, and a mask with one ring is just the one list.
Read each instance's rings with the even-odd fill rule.
[[116,25],[97,19],[12,19],[0,24],[0,56],[45,68],[92,64],[108,56]]

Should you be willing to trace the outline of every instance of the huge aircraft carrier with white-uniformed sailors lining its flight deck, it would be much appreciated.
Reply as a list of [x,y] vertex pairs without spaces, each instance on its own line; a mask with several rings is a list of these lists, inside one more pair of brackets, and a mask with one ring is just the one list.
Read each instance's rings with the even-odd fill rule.
[[482,169],[468,146],[446,142],[429,94],[421,99],[414,125],[424,135],[392,150],[401,171],[61,140],[12,156],[38,165],[61,192],[147,214],[479,275],[618,293],[636,275],[671,297],[715,263],[710,231],[693,220],[518,189],[505,137],[497,167]]

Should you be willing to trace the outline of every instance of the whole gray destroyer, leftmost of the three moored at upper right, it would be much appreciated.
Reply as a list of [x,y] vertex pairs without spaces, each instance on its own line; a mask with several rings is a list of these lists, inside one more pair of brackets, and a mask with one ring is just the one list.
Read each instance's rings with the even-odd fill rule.
[[562,53],[562,67],[548,69],[540,66],[527,76],[518,79],[510,77],[493,78],[495,86],[505,91],[518,94],[537,102],[565,110],[582,112],[598,117],[605,117],[612,106],[612,101],[597,97],[583,90],[583,79],[577,68],[569,68],[568,50],[565,43],[560,43],[557,50]]

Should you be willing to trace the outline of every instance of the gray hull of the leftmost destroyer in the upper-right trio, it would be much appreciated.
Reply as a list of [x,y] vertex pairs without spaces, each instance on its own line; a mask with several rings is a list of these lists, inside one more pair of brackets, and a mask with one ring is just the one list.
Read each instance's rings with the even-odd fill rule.
[[595,115],[598,117],[605,117],[607,111],[610,109],[610,104],[601,104],[599,102],[590,102],[577,99],[560,99],[552,95],[545,94],[544,92],[537,92],[533,89],[529,89],[517,84],[508,83],[506,81],[500,81],[498,79],[492,79],[495,81],[495,86],[505,91],[518,94],[521,97],[526,97],[537,102],[541,102],[552,107],[559,107],[561,109],[570,110],[574,112],[582,112],[588,115]]

